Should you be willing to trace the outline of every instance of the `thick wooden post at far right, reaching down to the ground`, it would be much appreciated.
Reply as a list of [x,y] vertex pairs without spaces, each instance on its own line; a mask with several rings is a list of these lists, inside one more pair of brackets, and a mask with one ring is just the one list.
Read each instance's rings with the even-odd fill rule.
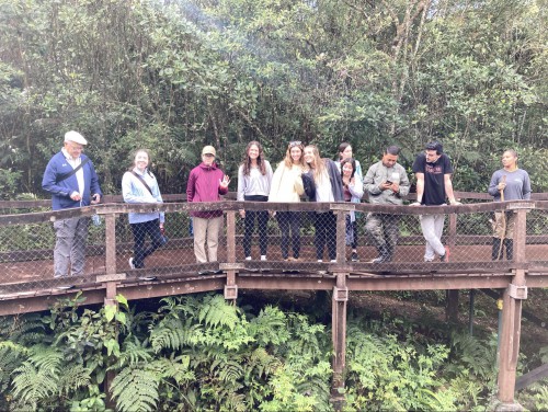
[[[528,206],[530,207],[530,206]],[[516,205],[514,228],[514,276],[504,290],[502,307],[502,333],[499,352],[499,401],[514,404],[516,365],[520,355],[522,330],[522,301],[527,298],[525,285],[525,241],[527,209]],[[517,405],[516,405],[517,407]]]

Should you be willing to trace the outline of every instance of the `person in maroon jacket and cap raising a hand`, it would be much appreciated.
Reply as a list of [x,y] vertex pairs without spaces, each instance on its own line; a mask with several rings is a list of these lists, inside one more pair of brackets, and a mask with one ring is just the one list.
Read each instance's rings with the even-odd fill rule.
[[[230,178],[215,163],[215,148],[202,149],[202,163],[191,171],[186,184],[186,202],[219,202],[228,193]],[[198,263],[217,262],[219,231],[222,228],[222,210],[191,211],[194,230],[194,254]],[[205,241],[207,239],[207,255]]]

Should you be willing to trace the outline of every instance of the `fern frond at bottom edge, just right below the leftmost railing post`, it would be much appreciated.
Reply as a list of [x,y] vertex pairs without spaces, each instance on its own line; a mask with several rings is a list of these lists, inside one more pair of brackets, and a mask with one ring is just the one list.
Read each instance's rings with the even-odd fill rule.
[[155,411],[160,399],[159,378],[150,370],[126,367],[112,381],[112,396],[116,399],[116,410]]

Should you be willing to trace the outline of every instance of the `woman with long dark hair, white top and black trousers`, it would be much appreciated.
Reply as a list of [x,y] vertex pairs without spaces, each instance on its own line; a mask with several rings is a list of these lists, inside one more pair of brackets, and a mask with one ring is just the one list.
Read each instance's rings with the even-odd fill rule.
[[[259,141],[250,141],[246,148],[246,158],[238,169],[238,201],[239,202],[267,202],[271,191],[272,168],[264,159],[263,147]],[[267,225],[269,211],[240,210],[244,219],[246,231],[243,234],[243,253],[246,260],[251,260],[251,238],[255,229],[255,217],[259,226],[259,247],[261,261],[266,260],[269,247]]]

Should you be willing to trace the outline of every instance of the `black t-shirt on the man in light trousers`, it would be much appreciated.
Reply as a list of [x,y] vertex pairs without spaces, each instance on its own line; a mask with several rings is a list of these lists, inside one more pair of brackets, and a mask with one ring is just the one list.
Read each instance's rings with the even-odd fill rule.
[[422,204],[426,206],[438,206],[445,203],[445,174],[453,174],[453,167],[447,154],[442,156],[434,162],[426,162],[426,156],[421,153],[413,163],[413,173],[424,173],[424,194]]

